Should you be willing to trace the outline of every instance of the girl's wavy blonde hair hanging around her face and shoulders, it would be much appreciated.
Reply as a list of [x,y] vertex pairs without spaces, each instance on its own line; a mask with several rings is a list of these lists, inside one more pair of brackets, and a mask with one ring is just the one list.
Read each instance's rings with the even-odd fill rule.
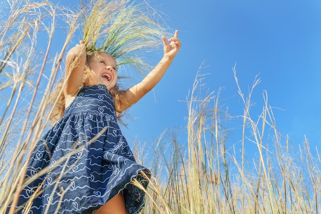
[[[99,53],[106,53],[106,52],[94,51],[94,52],[90,52],[89,54],[87,54],[85,70],[84,70],[84,75],[83,75],[83,84],[85,86],[88,86],[90,83],[90,80],[91,80],[90,68],[89,68],[88,64],[92,60],[97,59]],[[64,87],[64,81],[65,81],[65,77],[63,77],[61,80],[59,80],[57,86],[55,87],[55,89],[53,90],[53,92],[50,96],[50,104],[53,108],[53,113],[50,117],[50,120],[52,123],[55,123],[55,122],[61,120],[64,116],[64,113],[65,113],[65,109],[66,109],[65,94],[61,92]],[[125,95],[126,90],[121,89],[118,86],[118,84],[116,84],[109,92],[114,100],[117,100],[119,103],[125,102],[124,95]],[[58,100],[57,100],[57,98],[58,98]],[[56,100],[57,100],[57,103],[55,104]],[[119,109],[115,109],[115,110],[118,113],[117,119],[120,119],[122,116],[122,114],[121,114],[122,112],[119,111]]]

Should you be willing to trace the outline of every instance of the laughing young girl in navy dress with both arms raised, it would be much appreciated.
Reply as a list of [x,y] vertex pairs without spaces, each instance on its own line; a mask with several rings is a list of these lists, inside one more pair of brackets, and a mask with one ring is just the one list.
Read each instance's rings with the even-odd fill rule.
[[64,116],[33,151],[26,174],[31,183],[22,190],[15,211],[133,214],[141,210],[144,192],[131,182],[136,179],[146,187],[144,174],[149,171],[135,162],[117,114],[163,77],[180,48],[177,33],[170,43],[162,36],[163,59],[126,91],[118,90],[117,65],[108,53],[86,55],[82,41],[67,53]]

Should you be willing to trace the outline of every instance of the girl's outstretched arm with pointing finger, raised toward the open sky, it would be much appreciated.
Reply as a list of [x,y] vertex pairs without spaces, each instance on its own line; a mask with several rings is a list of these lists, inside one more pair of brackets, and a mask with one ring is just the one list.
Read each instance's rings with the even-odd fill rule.
[[120,103],[115,101],[116,109],[119,111],[124,111],[130,106],[134,105],[136,102],[141,100],[143,96],[148,93],[154,86],[162,79],[168,67],[171,65],[174,57],[180,48],[180,42],[177,38],[178,31],[175,31],[174,37],[170,38],[168,41],[165,36],[162,36],[164,45],[164,56],[162,60],[156,65],[156,67],[143,79],[142,82],[129,88],[125,92],[125,101]]

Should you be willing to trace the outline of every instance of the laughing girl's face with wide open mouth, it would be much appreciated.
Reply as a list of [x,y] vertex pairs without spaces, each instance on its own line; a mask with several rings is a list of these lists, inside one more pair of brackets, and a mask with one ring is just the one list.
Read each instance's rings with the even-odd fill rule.
[[108,53],[99,52],[98,57],[93,57],[89,63],[89,85],[103,84],[108,90],[116,85],[117,67],[116,61]]

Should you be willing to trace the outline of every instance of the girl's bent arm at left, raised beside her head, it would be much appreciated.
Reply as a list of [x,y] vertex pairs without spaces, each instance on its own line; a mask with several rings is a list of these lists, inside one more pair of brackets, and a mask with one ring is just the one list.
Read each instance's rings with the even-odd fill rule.
[[[83,41],[71,48],[66,56],[66,95],[75,96],[79,88],[83,86],[83,75],[86,65],[86,46]],[[68,77],[68,75],[70,75]]]

